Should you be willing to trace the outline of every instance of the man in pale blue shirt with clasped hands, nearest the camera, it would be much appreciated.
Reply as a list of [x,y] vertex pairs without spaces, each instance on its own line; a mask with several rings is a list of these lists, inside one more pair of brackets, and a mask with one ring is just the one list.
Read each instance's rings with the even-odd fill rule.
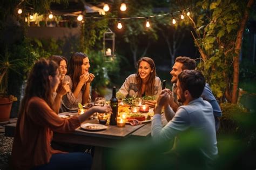
[[[172,140],[179,133],[193,129],[204,136],[204,145],[200,146],[207,162],[212,161],[218,154],[217,139],[212,106],[201,98],[205,87],[203,74],[196,70],[184,70],[178,75],[177,100],[183,103],[176,113],[169,105],[171,91],[162,90],[157,105],[154,109],[154,117],[151,124],[151,135],[154,141]],[[166,126],[161,124],[161,109],[165,108]]]

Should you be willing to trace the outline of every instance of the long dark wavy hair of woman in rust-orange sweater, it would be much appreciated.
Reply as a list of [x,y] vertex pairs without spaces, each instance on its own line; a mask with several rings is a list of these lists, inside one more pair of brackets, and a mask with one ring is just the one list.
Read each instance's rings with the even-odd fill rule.
[[49,76],[56,76],[58,65],[50,60],[42,58],[38,60],[30,71],[29,78],[26,82],[25,96],[22,99],[19,114],[26,111],[30,98],[39,97],[52,107],[53,96],[50,87]]

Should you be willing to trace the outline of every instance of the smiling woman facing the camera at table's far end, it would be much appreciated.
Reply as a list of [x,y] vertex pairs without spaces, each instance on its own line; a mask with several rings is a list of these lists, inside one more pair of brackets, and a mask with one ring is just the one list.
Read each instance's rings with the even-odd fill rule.
[[126,78],[118,93],[123,94],[124,97],[153,96],[156,98],[161,92],[161,80],[156,76],[153,59],[142,57],[138,60],[137,66],[137,73]]

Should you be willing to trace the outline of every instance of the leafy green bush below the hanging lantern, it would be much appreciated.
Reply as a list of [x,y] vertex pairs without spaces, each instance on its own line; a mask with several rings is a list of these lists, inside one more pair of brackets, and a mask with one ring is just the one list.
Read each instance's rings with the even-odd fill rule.
[[95,74],[95,79],[92,81],[93,89],[100,92],[102,88],[111,85],[109,76],[114,75],[117,77],[119,72],[119,59],[118,57],[113,62],[105,62],[102,52],[91,51],[88,53],[90,59],[90,72]]

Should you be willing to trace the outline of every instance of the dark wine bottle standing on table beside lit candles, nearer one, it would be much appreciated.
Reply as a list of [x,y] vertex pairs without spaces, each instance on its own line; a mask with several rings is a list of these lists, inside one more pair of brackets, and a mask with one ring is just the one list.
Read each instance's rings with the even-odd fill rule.
[[112,114],[110,115],[110,125],[117,125],[118,100],[116,98],[116,87],[113,87],[112,98],[110,99]]

